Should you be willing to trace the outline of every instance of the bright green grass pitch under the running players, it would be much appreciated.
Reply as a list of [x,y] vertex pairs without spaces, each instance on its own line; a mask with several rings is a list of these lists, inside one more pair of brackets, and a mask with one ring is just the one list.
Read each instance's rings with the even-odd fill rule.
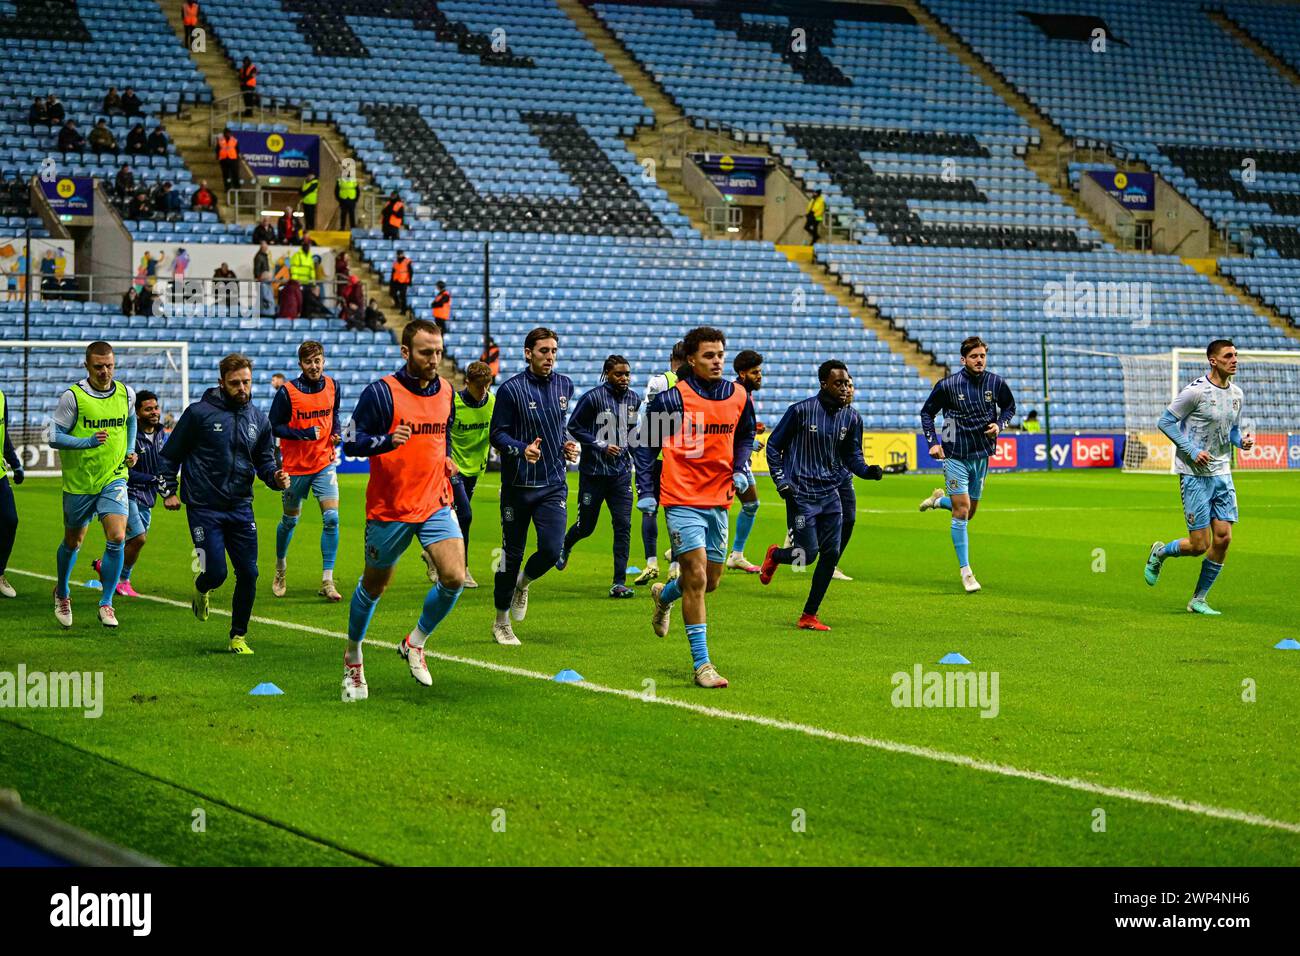
[[[344,705],[347,605],[316,597],[315,502],[277,600],[278,498],[259,489],[264,620],[248,637],[256,656],[235,657],[225,618],[188,611],[185,519],[161,506],[133,583],[185,607],[118,598],[109,633],[98,592],[74,587],[62,632],[49,580],[25,574],[53,574],[61,533],[57,483],[32,479],[16,489],[21,594],[0,600],[0,670],[103,671],[105,704],[99,719],[0,710],[0,786],[170,864],[1300,862],[1300,652],[1273,649],[1300,637],[1297,477],[1236,476],[1242,522],[1210,600],[1222,618],[1184,610],[1199,559],[1167,562],[1156,588],[1141,579],[1150,542],[1183,528],[1171,476],[992,476],[971,524],[974,596],[948,515],[916,511],[935,484],[858,483],[840,562],[855,580],[831,585],[829,633],[794,628],[805,575],[781,568],[763,588],[728,572],[708,623],[732,685],[703,691],[680,607],[660,640],[644,589],[604,596],[607,519],[533,587],[523,646],[493,643],[489,475],[471,553],[485,587],[430,639],[433,688],[393,650],[428,587],[411,550],[370,628],[370,698]],[[342,477],[344,598],[361,566],[363,492],[364,477]],[[766,480],[760,493],[754,559],[784,533]],[[101,549],[91,528],[74,581]],[[229,609],[231,584],[214,610]],[[893,706],[893,674],[942,670],[953,650],[971,661],[959,670],[998,674],[994,718]],[[540,679],[566,667],[593,687]],[[248,696],[260,682],[285,695]]]

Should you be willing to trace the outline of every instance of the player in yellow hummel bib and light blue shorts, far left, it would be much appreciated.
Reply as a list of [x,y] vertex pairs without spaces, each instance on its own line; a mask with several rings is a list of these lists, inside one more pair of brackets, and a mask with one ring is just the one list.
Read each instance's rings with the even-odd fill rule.
[[113,346],[86,346],[87,376],[58,397],[51,421],[49,445],[60,451],[64,485],[64,540],[58,545],[55,583],[55,618],[73,626],[69,581],[77,551],[86,538],[91,518],[104,525],[104,557],[100,578],[99,623],[117,627],[113,594],[122,575],[126,518],[130,511],[126,472],[135,467],[135,390],[113,378],[117,367]]

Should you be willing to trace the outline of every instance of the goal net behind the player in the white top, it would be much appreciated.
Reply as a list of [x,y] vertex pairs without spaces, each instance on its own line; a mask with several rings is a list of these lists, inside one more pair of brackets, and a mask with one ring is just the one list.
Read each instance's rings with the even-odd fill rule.
[[[1254,447],[1238,451],[1238,468],[1300,468],[1300,351],[1238,350],[1242,434]],[[1174,471],[1174,444],[1160,416],[1187,385],[1209,372],[1204,349],[1121,355],[1124,372],[1124,471]]]

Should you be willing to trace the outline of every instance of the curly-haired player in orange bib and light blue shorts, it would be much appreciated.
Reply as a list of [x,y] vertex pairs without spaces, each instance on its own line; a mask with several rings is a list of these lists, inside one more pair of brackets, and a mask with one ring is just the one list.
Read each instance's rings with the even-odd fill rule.
[[[690,641],[699,687],[727,687],[708,659],[705,596],[718,588],[727,558],[727,511],[738,490],[749,485],[744,466],[754,445],[754,403],[749,393],[723,378],[727,338],[708,326],[686,333],[689,373],[655,395],[633,444],[637,466],[637,509],[653,512],[663,505],[672,553],[681,575],[650,588],[651,627],[668,633],[673,602]],[[663,450],[663,466],[654,462]]]

